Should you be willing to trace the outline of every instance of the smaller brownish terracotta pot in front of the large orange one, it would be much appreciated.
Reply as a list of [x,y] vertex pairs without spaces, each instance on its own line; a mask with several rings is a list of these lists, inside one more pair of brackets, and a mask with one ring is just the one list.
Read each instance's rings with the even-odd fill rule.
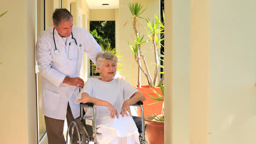
[[164,144],[164,122],[150,121],[145,118],[147,128],[145,137],[148,144]]

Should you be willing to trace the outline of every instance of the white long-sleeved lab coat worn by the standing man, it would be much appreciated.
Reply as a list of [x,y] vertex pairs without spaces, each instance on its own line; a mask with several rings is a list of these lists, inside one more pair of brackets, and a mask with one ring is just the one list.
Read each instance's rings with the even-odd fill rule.
[[[65,45],[64,40],[55,29],[55,43],[57,50],[59,50],[59,54],[55,54],[53,28],[43,32],[36,44],[36,57],[42,82],[42,99],[40,99],[42,112],[47,117],[64,120],[69,102],[73,116],[76,118],[79,116],[79,105],[75,104],[74,100],[79,94],[79,89],[66,83],[61,84],[61,82],[66,76],[79,77],[84,52],[95,63],[95,57],[98,52],[101,52],[101,46],[84,28],[73,26],[73,38],[77,40],[79,49],[79,58],[74,65],[74,60],[70,60],[66,52],[72,36],[67,38]],[[74,67],[71,67],[71,64]]]

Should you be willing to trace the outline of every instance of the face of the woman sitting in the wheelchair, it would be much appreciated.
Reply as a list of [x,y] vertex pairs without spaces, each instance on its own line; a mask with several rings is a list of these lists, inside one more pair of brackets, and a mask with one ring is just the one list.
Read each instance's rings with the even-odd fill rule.
[[101,68],[97,70],[101,73],[101,80],[111,81],[117,71],[117,63],[114,61],[108,62],[107,60],[104,60],[102,61]]

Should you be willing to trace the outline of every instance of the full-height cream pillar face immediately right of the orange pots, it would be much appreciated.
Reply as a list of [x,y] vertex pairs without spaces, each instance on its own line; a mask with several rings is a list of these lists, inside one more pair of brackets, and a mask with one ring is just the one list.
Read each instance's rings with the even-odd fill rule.
[[189,144],[190,2],[172,2],[165,1],[165,137],[166,143]]

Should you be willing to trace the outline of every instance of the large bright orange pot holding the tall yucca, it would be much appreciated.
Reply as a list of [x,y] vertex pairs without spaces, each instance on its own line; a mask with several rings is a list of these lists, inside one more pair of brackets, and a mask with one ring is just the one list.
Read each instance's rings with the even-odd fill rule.
[[[161,115],[163,102],[155,103],[156,101],[153,100],[152,97],[150,97],[148,95],[148,94],[150,94],[154,97],[158,97],[154,93],[153,89],[162,95],[161,89],[160,88],[149,88],[149,86],[142,86],[142,88],[138,88],[137,86],[135,86],[135,88],[137,88],[138,91],[140,91],[146,98],[146,100],[143,101],[144,117],[154,115],[154,114]],[[153,104],[153,103],[155,103],[155,104]],[[149,105],[149,104],[152,104],[152,105]],[[138,107],[137,111],[138,111],[138,116],[141,117],[141,108]]]

